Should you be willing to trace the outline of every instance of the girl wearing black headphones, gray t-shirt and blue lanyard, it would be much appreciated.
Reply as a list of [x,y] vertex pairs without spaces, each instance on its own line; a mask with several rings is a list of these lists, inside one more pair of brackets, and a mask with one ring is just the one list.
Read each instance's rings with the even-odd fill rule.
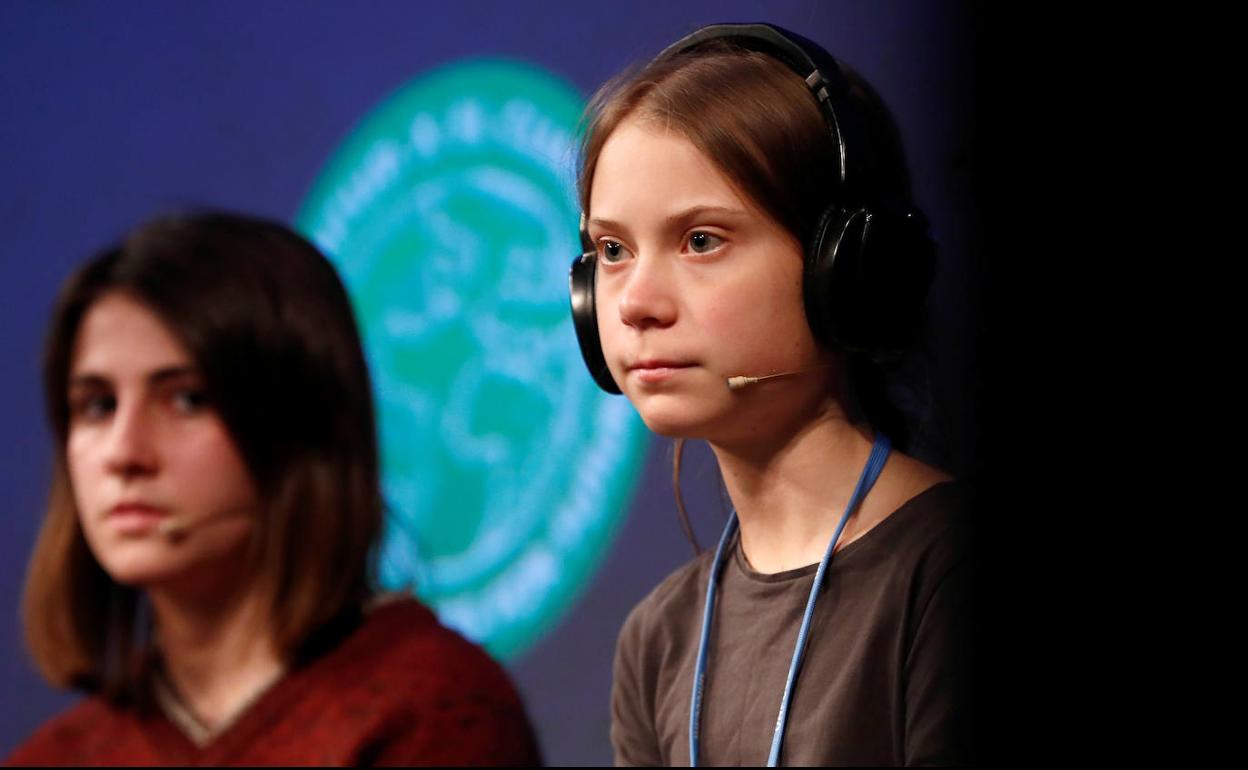
[[590,373],[708,441],[734,508],[620,631],[617,763],[967,761],[970,497],[875,376],[935,267],[882,102],[799,35],[704,27],[595,97],[579,192]]

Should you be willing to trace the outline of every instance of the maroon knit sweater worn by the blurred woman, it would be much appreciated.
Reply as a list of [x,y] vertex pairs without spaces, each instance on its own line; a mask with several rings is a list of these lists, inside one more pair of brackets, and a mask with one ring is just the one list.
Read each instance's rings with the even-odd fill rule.
[[419,603],[383,604],[196,746],[158,709],[99,696],[52,719],[11,765],[535,765],[503,669]]

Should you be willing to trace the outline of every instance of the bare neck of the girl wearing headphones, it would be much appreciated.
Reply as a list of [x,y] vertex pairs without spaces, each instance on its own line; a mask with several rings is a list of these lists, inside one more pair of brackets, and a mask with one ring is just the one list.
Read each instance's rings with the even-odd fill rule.
[[[755,570],[784,572],[822,558],[874,441],[829,399],[794,428],[711,444],[736,509],[741,549]],[[837,548],[874,525],[870,518],[861,510],[852,515]]]

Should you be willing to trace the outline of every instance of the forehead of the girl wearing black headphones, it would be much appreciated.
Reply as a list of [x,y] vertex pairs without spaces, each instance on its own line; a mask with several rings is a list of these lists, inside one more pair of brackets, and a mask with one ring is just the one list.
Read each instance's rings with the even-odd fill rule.
[[629,119],[603,144],[589,191],[590,216],[664,217],[694,206],[756,213],[731,180],[684,135]]

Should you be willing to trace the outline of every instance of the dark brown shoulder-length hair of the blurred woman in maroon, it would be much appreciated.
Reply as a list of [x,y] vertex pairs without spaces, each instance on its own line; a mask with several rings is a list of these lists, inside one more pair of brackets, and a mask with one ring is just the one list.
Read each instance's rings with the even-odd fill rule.
[[72,275],[44,348],[55,438],[47,513],[31,557],[22,620],[45,678],[121,699],[150,651],[140,595],[87,548],[66,472],[67,378],[79,326],[125,293],[187,348],[265,503],[248,559],[278,649],[357,615],[372,592],[382,525],[377,436],[364,354],[329,262],[283,225],[201,212],[152,221]]

